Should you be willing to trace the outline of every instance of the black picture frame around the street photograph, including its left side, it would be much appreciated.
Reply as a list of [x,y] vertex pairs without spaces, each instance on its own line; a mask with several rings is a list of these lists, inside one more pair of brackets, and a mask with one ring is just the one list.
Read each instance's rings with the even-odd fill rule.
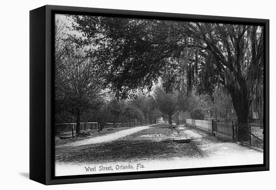
[[[264,27],[263,164],[54,176],[53,15],[85,14],[177,21],[250,24]],[[269,170],[269,20],[46,5],[30,11],[30,179],[43,184],[110,181]]]

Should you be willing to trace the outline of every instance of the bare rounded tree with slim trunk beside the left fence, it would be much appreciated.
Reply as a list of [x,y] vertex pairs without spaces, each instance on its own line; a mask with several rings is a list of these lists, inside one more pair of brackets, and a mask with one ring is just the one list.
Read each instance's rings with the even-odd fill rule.
[[101,98],[104,80],[100,77],[101,70],[95,62],[85,56],[85,51],[72,44],[64,54],[64,69],[61,85],[56,88],[59,94],[56,101],[62,108],[76,118],[76,133],[80,133],[81,115],[96,105]]

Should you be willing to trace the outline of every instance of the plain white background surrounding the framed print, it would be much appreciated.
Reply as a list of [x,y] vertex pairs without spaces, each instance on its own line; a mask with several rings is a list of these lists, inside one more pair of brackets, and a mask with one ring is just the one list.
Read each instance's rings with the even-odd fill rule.
[[[1,2],[1,61],[0,61],[0,118],[1,118],[1,183],[2,189],[271,189],[274,186],[275,138],[270,140],[270,168],[272,171],[230,173],[219,175],[168,177],[43,186],[27,179],[29,172],[29,11],[43,5],[67,5],[80,7],[125,9],[187,13],[215,16],[235,16],[270,19],[270,97],[275,97],[276,71],[272,52],[275,52],[276,11],[273,1],[160,1],[160,0],[41,0]],[[272,47],[273,46],[273,47]],[[270,99],[270,108],[276,107]],[[275,111],[270,110],[273,118]],[[271,121],[270,126],[274,126]],[[4,131],[6,128],[8,131]],[[270,127],[270,136],[275,136]],[[273,156],[273,160],[272,157]],[[274,175],[274,176],[273,176]],[[227,184],[227,185],[225,185]]]

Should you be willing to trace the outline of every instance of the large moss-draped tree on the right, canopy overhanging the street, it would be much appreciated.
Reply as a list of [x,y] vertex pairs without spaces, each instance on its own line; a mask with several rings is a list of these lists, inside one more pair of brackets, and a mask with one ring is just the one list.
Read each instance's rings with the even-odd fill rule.
[[[212,94],[227,90],[240,126],[263,91],[263,27],[75,16],[81,44],[98,46],[109,68],[111,88],[125,98],[136,88],[150,91],[158,77],[164,88]],[[101,58],[103,58],[101,56]],[[120,81],[120,82],[118,82]],[[240,131],[239,138],[248,133]],[[247,137],[246,137],[247,136]]]

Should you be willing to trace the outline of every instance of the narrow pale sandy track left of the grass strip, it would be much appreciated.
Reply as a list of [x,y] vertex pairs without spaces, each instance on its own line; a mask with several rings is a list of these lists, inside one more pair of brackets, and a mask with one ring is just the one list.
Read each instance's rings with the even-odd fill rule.
[[110,141],[114,141],[119,138],[125,137],[127,135],[131,135],[133,133],[139,132],[141,130],[148,129],[148,128],[150,128],[150,126],[153,126],[153,125],[134,127],[131,129],[125,129],[122,131],[117,131],[114,133],[109,133],[109,134],[98,136],[98,137],[91,137],[89,139],[84,139],[84,140],[76,141],[73,143],[59,145],[59,146],[56,146],[56,148],[61,148],[61,147],[65,147],[65,146],[80,146],[80,145],[89,145],[89,144],[96,144],[96,143],[102,143],[102,142],[110,142]]

